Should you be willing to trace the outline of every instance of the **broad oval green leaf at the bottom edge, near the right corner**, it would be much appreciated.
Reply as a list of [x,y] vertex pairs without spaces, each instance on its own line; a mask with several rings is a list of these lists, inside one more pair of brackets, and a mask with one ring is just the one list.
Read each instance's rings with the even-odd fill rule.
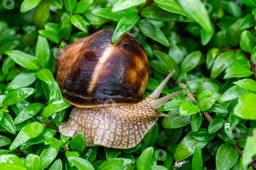
[[231,144],[222,144],[216,155],[216,169],[230,169],[238,160],[238,150]]

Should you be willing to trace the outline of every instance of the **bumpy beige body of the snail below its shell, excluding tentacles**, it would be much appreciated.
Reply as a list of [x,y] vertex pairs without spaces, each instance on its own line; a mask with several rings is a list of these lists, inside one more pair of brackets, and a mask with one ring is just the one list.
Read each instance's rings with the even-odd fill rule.
[[75,107],[59,126],[64,136],[83,132],[86,146],[127,149],[136,146],[157,121],[160,112],[146,98],[136,104],[96,108]]

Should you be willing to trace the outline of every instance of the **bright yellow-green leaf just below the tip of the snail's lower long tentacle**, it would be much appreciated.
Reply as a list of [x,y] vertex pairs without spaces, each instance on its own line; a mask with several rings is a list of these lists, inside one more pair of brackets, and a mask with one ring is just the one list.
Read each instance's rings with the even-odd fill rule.
[[189,103],[189,101],[183,102],[180,105],[180,109],[179,109],[181,117],[192,115],[192,114],[198,113],[199,111],[200,111],[200,109],[197,108],[196,105]]

